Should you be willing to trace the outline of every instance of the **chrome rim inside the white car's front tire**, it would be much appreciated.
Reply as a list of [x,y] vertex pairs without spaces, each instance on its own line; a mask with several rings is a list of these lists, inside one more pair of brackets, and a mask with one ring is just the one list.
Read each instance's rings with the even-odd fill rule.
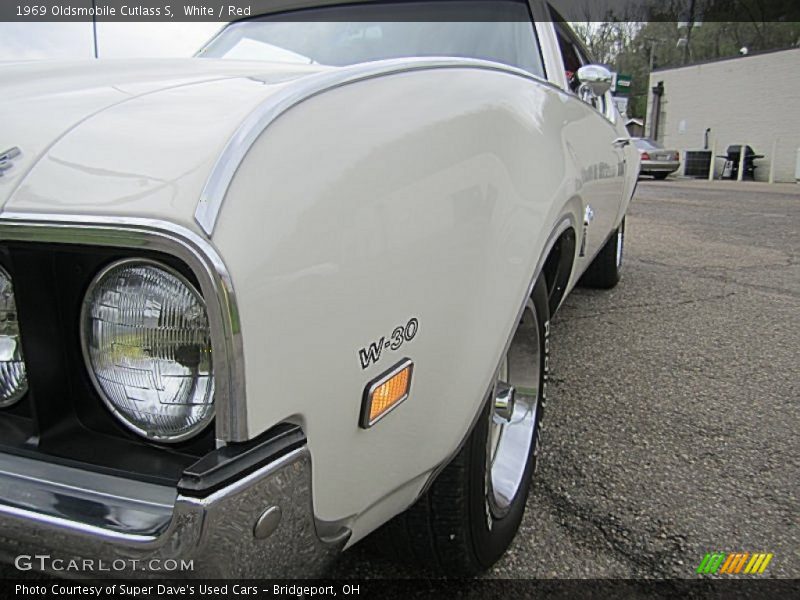
[[539,323],[526,308],[505,358],[494,391],[487,436],[487,504],[491,517],[504,517],[523,485],[537,442],[541,396]]

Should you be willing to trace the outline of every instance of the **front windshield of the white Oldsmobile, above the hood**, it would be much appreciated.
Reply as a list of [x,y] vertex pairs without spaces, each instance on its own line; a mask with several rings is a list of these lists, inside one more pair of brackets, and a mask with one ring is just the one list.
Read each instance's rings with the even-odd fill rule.
[[[420,15],[426,20],[414,20]],[[371,3],[281,13],[229,25],[198,56],[333,66],[456,56],[544,73],[527,4],[517,0]]]

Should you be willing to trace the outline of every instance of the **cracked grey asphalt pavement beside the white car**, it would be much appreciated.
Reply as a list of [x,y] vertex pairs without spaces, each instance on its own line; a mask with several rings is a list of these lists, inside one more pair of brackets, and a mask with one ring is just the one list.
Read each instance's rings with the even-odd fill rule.
[[[695,576],[710,551],[800,577],[800,186],[642,181],[610,291],[553,322],[544,454],[487,574]],[[419,576],[356,546],[342,577]]]

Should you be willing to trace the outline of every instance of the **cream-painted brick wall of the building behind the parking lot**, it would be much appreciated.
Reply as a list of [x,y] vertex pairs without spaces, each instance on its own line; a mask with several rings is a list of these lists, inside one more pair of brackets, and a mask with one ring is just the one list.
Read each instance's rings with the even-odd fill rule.
[[[663,90],[660,99],[655,87]],[[645,135],[654,137],[653,127],[660,142],[681,152],[703,149],[710,128],[709,147],[716,142],[717,155],[732,144],[765,155],[755,163],[757,181],[766,181],[771,167],[775,181],[795,181],[800,48],[653,71]],[[717,160],[717,175],[723,164]]]

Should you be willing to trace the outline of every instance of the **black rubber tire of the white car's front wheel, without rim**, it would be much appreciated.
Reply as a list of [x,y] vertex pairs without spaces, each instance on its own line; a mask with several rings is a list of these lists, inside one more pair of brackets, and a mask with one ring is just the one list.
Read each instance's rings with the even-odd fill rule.
[[[535,312],[529,312],[535,311]],[[492,516],[491,478],[487,465],[494,390],[456,457],[428,491],[374,536],[393,558],[446,576],[471,576],[491,567],[505,553],[519,529],[536,468],[547,381],[549,312],[547,290],[538,282],[520,323],[533,315],[538,325],[539,371],[532,439],[521,484],[502,518]],[[530,326],[530,325],[528,325]],[[516,338],[515,338],[516,339]]]

